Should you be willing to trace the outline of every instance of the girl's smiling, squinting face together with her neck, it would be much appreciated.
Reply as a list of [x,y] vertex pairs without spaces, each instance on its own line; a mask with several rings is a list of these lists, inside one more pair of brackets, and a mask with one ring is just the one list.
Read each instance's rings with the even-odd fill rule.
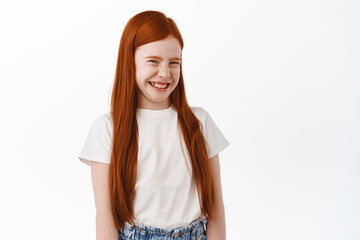
[[181,47],[168,36],[135,49],[138,107],[160,110],[170,107],[170,94],[180,78]]

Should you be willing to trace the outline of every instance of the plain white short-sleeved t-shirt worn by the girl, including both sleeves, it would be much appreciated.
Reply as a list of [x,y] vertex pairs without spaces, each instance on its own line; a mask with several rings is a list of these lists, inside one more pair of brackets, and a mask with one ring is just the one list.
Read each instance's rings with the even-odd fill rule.
[[[191,107],[201,122],[208,157],[224,150],[229,142],[203,108]],[[180,137],[177,112],[137,109],[138,164],[134,197],[135,223],[158,228],[186,226],[201,217],[199,197],[192,181],[191,162]],[[113,123],[110,112],[91,126],[79,159],[110,164]],[[180,133],[180,134],[179,134]],[[183,150],[182,150],[183,149]]]

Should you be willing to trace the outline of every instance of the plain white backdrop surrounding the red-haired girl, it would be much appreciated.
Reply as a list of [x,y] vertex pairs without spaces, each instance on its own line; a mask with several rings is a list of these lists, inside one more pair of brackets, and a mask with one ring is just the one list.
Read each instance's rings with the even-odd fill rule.
[[[172,17],[219,154],[229,240],[360,239],[360,2],[0,3],[0,239],[95,239],[78,160],[126,22]],[[174,206],[175,207],[175,206]]]

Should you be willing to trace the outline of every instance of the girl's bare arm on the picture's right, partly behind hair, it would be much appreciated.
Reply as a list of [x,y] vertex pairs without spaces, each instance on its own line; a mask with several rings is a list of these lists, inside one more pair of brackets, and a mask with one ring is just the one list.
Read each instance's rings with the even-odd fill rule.
[[209,159],[210,167],[213,173],[214,190],[215,190],[215,220],[209,220],[206,227],[206,239],[208,240],[225,240],[225,208],[221,190],[220,161],[219,155]]

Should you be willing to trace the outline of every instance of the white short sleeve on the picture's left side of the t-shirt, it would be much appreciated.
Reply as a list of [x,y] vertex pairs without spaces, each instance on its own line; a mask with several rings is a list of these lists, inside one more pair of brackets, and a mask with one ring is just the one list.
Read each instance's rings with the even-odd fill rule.
[[93,122],[78,158],[89,166],[90,161],[110,164],[111,144],[111,122],[104,114]]

